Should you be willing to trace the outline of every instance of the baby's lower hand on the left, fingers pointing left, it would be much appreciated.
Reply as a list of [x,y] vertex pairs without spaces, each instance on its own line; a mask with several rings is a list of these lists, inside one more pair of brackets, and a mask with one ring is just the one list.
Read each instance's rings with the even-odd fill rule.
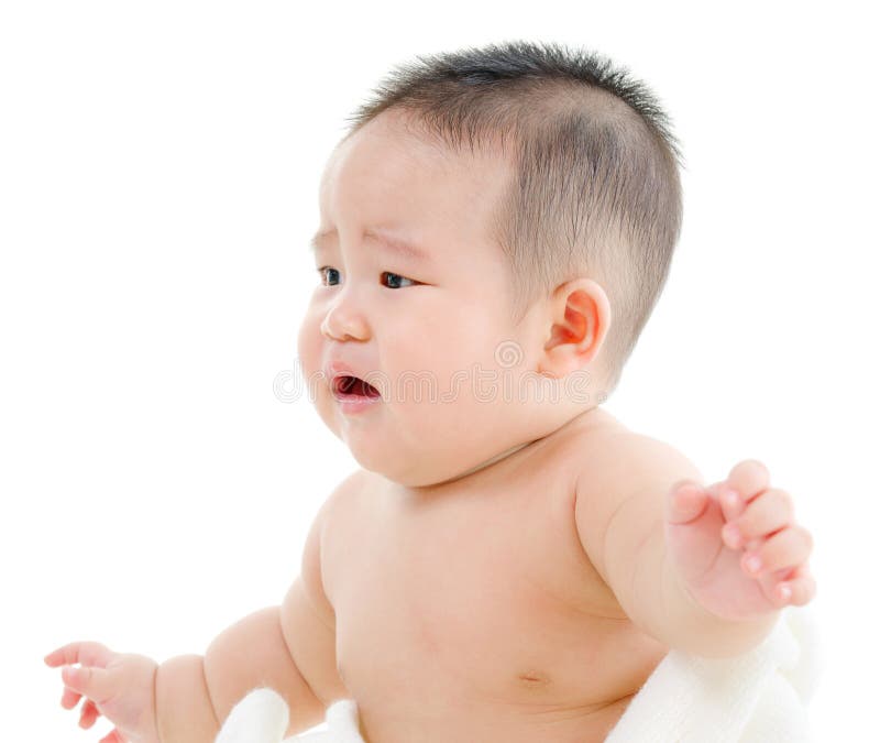
[[[91,728],[103,714],[116,728],[100,743],[161,743],[156,730],[155,660],[144,655],[113,653],[100,643],[70,643],[44,658],[62,669],[62,707],[80,698],[79,725]],[[73,664],[81,664],[75,668]]]

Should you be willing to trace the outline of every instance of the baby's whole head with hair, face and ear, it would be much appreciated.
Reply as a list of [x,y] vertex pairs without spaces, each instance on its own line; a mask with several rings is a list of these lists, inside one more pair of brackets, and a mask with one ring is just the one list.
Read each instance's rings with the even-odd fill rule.
[[[418,487],[604,402],[666,282],[678,159],[598,55],[514,42],[395,70],[321,179],[299,362],[322,419]],[[346,375],[375,389],[340,400],[365,390]]]

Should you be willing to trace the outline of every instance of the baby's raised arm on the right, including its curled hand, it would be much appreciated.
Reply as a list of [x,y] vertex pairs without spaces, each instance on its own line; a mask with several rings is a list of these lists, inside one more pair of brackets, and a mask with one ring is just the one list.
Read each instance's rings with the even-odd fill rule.
[[[787,603],[783,578],[796,588],[789,602],[812,598],[803,568],[809,533],[778,505],[781,491],[768,489],[760,463],[741,462],[724,483],[749,501],[738,506],[710,496],[700,472],[673,447],[629,433],[585,452],[581,471],[575,522],[584,549],[632,622],[664,645],[707,657],[738,655],[772,630]],[[696,485],[688,513],[672,513],[674,485],[685,481]],[[715,495],[721,484],[712,487]],[[751,522],[747,545],[722,540],[725,520],[734,516]],[[740,547],[762,544],[778,565],[759,578],[746,571]]]

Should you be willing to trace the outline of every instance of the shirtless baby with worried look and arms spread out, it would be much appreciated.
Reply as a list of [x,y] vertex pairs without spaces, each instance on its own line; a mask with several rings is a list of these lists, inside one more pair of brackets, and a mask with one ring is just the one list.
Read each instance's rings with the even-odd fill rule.
[[61,647],[62,704],[103,743],[208,743],[263,685],[287,735],[353,699],[369,743],[602,741],[671,648],[738,655],[809,603],[811,535],[761,463],[704,484],[602,407],[666,282],[676,154],[596,55],[397,70],[323,173],[298,340],[361,469],[279,607],[204,657]]

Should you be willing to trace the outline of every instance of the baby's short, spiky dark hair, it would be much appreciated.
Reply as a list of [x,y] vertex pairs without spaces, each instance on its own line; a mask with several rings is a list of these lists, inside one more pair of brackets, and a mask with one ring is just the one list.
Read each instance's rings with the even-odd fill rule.
[[[348,117],[348,139],[389,109],[453,152],[510,147],[491,237],[519,323],[587,275],[608,295],[607,395],[666,284],[682,218],[681,151],[648,87],[597,53],[513,41],[397,65]],[[604,358],[603,358],[604,357]]]

